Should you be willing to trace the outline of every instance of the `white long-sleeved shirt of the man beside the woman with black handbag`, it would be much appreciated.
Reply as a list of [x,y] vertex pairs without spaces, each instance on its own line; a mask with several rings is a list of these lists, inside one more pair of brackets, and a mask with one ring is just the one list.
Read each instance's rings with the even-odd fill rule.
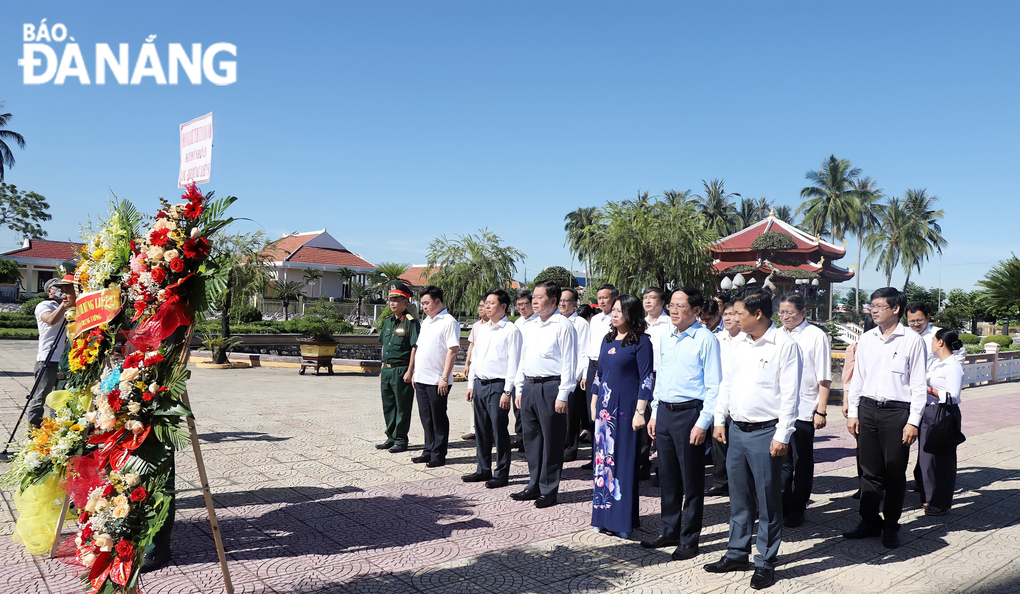
[[928,392],[926,361],[924,339],[903,324],[897,323],[888,338],[882,336],[878,326],[862,334],[854,350],[847,415],[857,419],[862,397],[910,402],[907,423],[919,427]]

